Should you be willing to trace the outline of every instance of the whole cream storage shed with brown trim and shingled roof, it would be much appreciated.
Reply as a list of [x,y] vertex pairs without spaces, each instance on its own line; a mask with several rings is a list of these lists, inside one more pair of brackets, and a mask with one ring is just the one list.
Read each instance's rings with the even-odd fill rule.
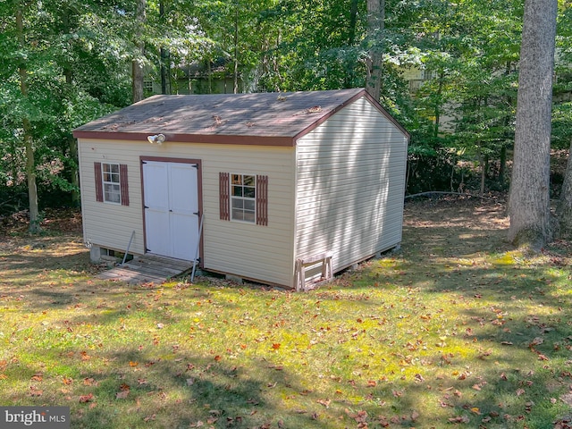
[[73,134],[93,260],[300,290],[400,244],[408,132],[363,88],[154,96]]

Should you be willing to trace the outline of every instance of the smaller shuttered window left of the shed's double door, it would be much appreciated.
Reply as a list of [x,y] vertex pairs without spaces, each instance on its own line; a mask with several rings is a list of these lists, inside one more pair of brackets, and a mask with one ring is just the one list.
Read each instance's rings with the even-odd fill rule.
[[99,202],[129,206],[127,165],[95,163],[96,199]]

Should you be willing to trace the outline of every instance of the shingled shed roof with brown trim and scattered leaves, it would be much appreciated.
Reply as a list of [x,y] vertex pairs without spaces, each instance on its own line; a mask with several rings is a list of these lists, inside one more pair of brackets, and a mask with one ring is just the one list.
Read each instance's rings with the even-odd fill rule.
[[153,96],[73,130],[76,138],[147,139],[294,146],[332,114],[360,97],[408,136],[363,88],[285,93]]

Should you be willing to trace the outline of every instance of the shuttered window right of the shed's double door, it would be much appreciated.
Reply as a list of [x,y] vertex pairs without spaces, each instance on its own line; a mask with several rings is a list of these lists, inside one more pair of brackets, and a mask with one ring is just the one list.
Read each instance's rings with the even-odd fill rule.
[[219,174],[220,218],[268,224],[268,176]]

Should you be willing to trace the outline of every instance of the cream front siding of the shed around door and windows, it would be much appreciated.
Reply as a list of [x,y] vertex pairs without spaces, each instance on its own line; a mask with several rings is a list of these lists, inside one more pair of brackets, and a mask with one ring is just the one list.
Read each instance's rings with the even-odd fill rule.
[[[143,254],[143,209],[139,156],[201,160],[203,261],[207,270],[291,286],[294,270],[294,174],[292,147],[209,145],[166,141],[79,139],[84,238],[103,248]],[[96,203],[94,163],[127,164],[130,206]],[[219,173],[269,176],[268,225],[219,219]]]

